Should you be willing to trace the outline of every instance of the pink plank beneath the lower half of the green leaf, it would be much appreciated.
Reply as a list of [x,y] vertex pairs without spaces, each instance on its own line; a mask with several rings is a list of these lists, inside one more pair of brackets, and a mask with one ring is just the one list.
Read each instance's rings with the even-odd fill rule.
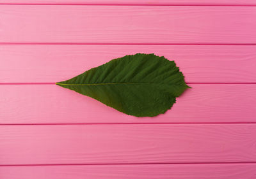
[[191,85],[172,110],[137,118],[58,85],[0,85],[1,124],[256,122],[256,85]]

